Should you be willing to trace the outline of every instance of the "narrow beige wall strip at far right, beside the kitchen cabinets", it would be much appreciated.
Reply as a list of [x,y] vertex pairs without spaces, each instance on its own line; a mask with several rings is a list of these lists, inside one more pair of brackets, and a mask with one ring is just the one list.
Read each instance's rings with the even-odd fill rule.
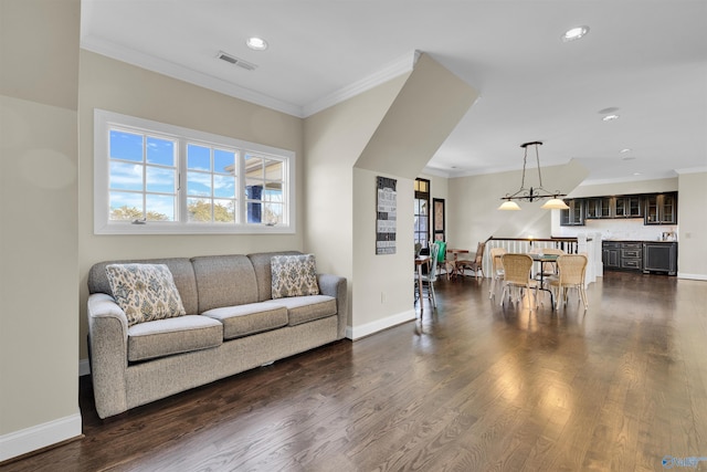
[[707,171],[680,174],[678,182],[677,275],[707,280]]

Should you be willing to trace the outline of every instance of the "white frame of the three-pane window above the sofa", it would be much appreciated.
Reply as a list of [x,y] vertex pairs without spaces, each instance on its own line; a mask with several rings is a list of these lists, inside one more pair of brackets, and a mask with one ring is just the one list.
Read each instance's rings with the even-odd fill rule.
[[[179,203],[177,206],[176,221],[159,222],[131,222],[112,221],[109,219],[109,132],[112,127],[120,129],[133,129],[139,134],[155,133],[161,136],[173,138],[178,141],[177,167],[179,169]],[[283,161],[285,199],[283,222],[277,224],[247,223],[245,218],[244,192],[242,191],[244,172],[239,169],[236,185],[238,208],[240,222],[238,223],[203,223],[188,222],[187,201],[187,143],[204,143],[214,147],[234,148],[238,150],[236,161],[239,166],[243,162],[246,153],[264,155],[268,158]],[[291,234],[295,233],[295,159],[296,155],[292,150],[265,146],[256,143],[249,143],[226,136],[168,125],[150,119],[137,118],[122,115],[104,109],[94,109],[94,234]]]

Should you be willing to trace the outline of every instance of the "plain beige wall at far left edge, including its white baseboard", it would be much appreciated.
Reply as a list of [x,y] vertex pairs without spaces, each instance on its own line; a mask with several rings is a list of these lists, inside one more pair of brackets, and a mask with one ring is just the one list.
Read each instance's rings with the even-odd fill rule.
[[0,2],[0,461],[81,434],[77,0]]

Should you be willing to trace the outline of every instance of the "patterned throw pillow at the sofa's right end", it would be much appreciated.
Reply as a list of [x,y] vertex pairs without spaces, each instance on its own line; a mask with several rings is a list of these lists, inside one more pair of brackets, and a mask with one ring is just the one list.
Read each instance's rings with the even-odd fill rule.
[[273,255],[270,263],[273,298],[319,294],[314,254]]

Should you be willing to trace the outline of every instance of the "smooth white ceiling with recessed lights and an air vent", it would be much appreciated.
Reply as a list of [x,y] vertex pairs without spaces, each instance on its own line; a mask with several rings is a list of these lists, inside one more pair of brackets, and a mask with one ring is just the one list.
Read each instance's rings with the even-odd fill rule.
[[540,140],[542,166],[577,159],[599,183],[707,170],[706,29],[705,0],[83,0],[81,44],[300,117],[424,52],[481,93],[426,171],[518,169]]

